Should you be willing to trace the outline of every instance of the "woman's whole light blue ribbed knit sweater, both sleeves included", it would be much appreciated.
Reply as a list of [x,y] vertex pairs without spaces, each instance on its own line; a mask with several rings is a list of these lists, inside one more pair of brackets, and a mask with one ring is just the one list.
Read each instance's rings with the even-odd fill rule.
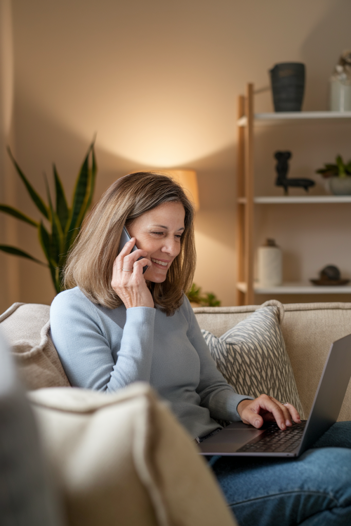
[[[216,368],[184,296],[173,316],[159,309],[95,305],[75,287],[55,297],[51,333],[72,386],[113,392],[148,382],[192,437],[240,420],[238,395]],[[212,417],[212,418],[211,418]]]

